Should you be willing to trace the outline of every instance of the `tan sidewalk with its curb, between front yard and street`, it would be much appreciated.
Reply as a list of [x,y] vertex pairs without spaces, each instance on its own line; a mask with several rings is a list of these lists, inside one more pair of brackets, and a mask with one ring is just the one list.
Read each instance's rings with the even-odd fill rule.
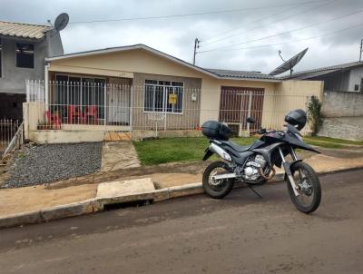
[[[320,174],[363,168],[362,150],[324,150],[323,153],[304,160]],[[282,175],[283,171],[278,171],[279,173]],[[115,178],[112,181],[116,182],[111,184],[109,182],[80,185],[59,183],[55,187],[41,185],[1,189],[0,227],[81,215],[103,210],[103,206],[107,203],[161,201],[202,192],[201,173],[159,172],[132,176],[130,179],[132,180],[125,181],[124,178],[122,180]],[[276,176],[275,181],[279,180],[281,176]],[[103,195],[100,194],[100,189],[103,190]]]

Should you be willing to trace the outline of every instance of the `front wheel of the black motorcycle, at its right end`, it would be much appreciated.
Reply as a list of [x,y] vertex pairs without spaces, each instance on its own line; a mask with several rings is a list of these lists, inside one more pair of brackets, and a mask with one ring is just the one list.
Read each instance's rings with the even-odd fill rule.
[[289,197],[295,207],[306,214],[317,210],[321,201],[321,188],[317,173],[309,164],[302,161],[291,167],[291,173],[299,192],[299,196],[296,196],[288,178]]

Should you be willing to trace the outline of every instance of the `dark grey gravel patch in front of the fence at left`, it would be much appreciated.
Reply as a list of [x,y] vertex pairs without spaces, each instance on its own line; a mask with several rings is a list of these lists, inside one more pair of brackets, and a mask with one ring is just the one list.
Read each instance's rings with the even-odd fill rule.
[[100,171],[102,142],[27,145],[2,188],[19,188]]

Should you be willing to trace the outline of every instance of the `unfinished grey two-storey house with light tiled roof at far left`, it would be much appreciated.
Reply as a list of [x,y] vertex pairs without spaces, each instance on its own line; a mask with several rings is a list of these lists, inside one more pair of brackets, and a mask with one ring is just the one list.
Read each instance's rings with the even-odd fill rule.
[[0,21],[0,119],[23,119],[25,81],[44,80],[45,58],[60,54],[52,26]]

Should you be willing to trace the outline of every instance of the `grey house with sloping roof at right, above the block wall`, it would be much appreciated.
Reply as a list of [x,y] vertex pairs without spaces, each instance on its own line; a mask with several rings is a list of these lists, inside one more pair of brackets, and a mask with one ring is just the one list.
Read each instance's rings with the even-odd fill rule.
[[337,64],[292,73],[284,79],[318,80],[324,82],[324,92],[363,92],[363,62]]

